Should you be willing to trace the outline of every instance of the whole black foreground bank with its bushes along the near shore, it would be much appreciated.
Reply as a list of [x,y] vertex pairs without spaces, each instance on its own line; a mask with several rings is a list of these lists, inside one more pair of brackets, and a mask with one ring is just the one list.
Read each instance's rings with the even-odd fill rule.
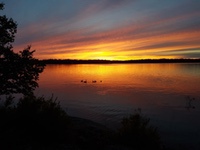
[[118,130],[90,120],[70,117],[59,102],[28,96],[17,104],[1,100],[1,149],[163,149],[155,127],[140,111],[122,120]]

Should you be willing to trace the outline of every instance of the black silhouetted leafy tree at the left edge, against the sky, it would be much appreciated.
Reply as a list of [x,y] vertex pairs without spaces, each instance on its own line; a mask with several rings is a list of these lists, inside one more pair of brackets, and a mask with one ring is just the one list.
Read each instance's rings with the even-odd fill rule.
[[[0,10],[3,9],[4,4],[0,3]],[[5,15],[0,16],[0,95],[33,94],[39,73],[44,70],[44,64],[33,57],[35,51],[31,51],[31,46],[19,53],[13,51],[16,32],[17,23]]]

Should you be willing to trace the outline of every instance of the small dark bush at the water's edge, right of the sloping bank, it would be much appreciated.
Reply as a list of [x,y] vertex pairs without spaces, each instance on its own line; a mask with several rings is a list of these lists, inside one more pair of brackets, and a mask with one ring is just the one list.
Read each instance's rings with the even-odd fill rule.
[[119,142],[133,149],[161,149],[157,128],[149,125],[150,119],[138,109],[135,114],[125,117],[119,129]]

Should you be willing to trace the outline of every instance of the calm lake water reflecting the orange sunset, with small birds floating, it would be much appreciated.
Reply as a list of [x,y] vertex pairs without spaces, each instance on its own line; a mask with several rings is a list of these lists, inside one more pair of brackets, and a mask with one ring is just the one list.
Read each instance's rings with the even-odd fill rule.
[[200,64],[47,65],[35,93],[110,128],[141,108],[165,143],[200,149]]

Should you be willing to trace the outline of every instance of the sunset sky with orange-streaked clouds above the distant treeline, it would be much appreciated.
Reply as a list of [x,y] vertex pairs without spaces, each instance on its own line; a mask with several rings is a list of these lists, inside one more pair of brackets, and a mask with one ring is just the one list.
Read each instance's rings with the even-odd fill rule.
[[6,0],[39,59],[200,58],[200,0]]

